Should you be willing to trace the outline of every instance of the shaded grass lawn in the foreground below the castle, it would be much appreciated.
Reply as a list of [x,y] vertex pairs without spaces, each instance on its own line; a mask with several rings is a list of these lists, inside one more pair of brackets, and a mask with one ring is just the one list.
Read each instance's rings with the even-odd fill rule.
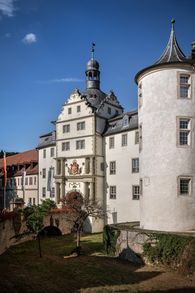
[[0,256],[0,292],[188,290],[189,280],[174,272],[107,257],[103,251],[102,234],[85,235],[81,240],[83,255],[75,258],[64,258],[75,247],[73,235],[42,238],[42,258],[39,257],[37,241],[11,247]]

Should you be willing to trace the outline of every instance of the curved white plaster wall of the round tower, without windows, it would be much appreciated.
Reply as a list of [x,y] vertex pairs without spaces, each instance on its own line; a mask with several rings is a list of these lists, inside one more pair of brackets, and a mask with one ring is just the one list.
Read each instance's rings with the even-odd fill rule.
[[[192,73],[192,99],[178,98],[178,72]],[[164,231],[195,229],[195,74],[187,67],[160,67],[140,78],[139,109],[143,148],[140,153],[141,227]],[[177,147],[177,116],[192,117],[192,145]],[[193,177],[192,195],[178,196],[177,177]]]

